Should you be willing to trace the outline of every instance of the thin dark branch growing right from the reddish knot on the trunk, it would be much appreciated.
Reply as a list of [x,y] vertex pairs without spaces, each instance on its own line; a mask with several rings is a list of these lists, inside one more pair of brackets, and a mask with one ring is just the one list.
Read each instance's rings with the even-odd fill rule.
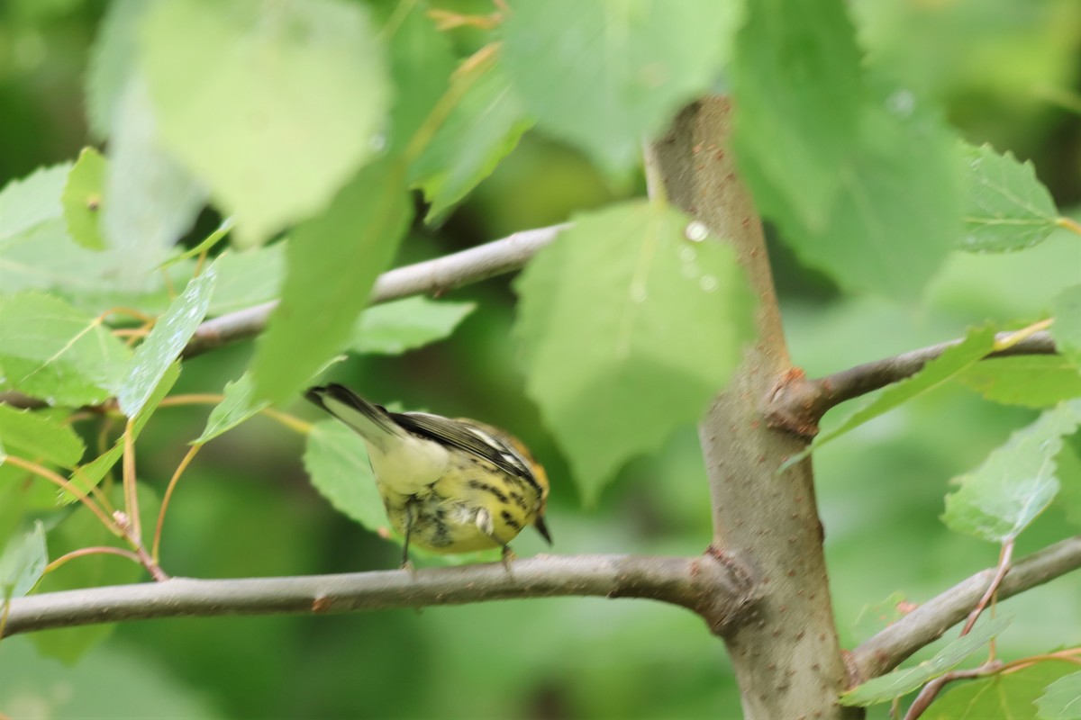
[[[1005,339],[1010,332],[997,337]],[[823,378],[811,379],[799,372],[789,373],[773,389],[764,408],[770,423],[803,437],[814,437],[818,432],[818,421],[826,411],[845,400],[859,397],[880,388],[910,378],[924,365],[957,345],[961,340],[951,340],[930,348],[922,348],[885,357],[873,363],[865,363]],[[1030,337],[1006,350],[987,355],[1053,355],[1055,341],[1046,331],[1033,332]]]

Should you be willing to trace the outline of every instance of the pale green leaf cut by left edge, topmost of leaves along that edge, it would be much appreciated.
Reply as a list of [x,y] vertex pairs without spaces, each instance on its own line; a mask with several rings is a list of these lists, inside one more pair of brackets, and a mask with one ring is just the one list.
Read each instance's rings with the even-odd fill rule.
[[[67,181],[71,163],[39,167],[23,179],[14,179],[0,190],[0,252],[10,243],[50,220],[63,218],[61,194]],[[5,281],[6,270],[0,264],[0,288],[10,293]]]

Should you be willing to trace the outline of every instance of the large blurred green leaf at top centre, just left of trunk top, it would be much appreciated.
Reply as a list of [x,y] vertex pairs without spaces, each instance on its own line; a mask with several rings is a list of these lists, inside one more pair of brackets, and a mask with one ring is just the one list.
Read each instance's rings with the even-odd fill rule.
[[504,25],[504,59],[539,127],[625,171],[643,139],[710,87],[742,9],[712,0],[521,2]]

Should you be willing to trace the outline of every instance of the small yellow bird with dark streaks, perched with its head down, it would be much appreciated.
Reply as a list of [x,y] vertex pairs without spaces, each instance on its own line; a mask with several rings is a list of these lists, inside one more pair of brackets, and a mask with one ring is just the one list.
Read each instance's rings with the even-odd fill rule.
[[548,476],[515,436],[475,420],[389,412],[348,388],[305,396],[357,431],[368,446],[391,525],[410,543],[437,553],[502,547],[526,525],[551,544],[545,526]]

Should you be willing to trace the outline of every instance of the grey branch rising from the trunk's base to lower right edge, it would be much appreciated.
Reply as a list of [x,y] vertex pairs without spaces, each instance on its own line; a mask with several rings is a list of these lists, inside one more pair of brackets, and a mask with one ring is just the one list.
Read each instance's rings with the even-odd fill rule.
[[[1081,568],[1081,535],[1068,538],[1029,555],[1010,568],[999,586],[1004,600]],[[862,643],[850,655],[858,681],[892,670],[906,657],[960,623],[992,582],[996,569],[977,572]]]

